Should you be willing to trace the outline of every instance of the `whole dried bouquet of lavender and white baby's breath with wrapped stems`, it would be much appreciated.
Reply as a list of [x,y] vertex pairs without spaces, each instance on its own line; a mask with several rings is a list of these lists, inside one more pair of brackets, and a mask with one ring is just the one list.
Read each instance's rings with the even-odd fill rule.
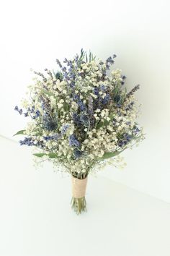
[[125,75],[112,69],[116,55],[106,61],[91,52],[73,59],[56,60],[57,72],[34,72],[32,85],[22,108],[27,126],[16,135],[24,135],[20,145],[32,146],[40,161],[52,161],[55,168],[71,174],[72,208],[86,210],[86,182],[105,163],[117,166],[120,153],[143,140],[136,119],[139,106],[134,93],[127,92]]

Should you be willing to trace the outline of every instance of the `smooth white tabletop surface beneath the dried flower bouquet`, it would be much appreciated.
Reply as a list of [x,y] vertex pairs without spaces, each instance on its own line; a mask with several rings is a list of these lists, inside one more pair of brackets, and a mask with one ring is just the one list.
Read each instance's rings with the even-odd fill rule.
[[89,176],[87,213],[71,210],[71,179],[0,137],[1,256],[169,256],[170,204]]

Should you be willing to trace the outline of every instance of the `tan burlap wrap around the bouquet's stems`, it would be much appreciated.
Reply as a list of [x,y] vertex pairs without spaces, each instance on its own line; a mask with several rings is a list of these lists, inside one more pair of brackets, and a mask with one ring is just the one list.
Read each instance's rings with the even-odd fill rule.
[[86,179],[77,179],[71,176],[72,181],[72,195],[74,198],[84,197],[86,194]]

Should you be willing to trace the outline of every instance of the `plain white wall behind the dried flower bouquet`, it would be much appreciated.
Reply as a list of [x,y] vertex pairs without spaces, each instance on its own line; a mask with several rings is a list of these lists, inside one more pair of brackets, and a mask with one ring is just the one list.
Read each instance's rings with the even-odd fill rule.
[[124,171],[101,174],[170,202],[169,1],[4,1],[1,4],[0,135],[12,138],[24,120],[13,111],[31,81],[30,68],[57,67],[55,59],[82,47],[140,83],[140,123],[146,141],[126,152]]

